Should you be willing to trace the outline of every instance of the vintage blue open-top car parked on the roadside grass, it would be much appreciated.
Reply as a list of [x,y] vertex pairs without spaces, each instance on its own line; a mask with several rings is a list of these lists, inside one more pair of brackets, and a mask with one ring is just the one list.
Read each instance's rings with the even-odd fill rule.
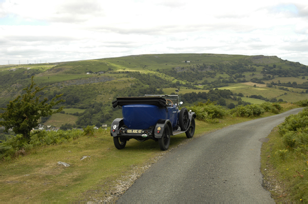
[[114,146],[123,149],[129,139],[159,142],[161,150],[167,150],[170,136],[186,133],[194,136],[196,114],[179,106],[179,95],[145,95],[143,97],[118,97],[113,108],[122,107],[123,118],[114,119],[111,136]]

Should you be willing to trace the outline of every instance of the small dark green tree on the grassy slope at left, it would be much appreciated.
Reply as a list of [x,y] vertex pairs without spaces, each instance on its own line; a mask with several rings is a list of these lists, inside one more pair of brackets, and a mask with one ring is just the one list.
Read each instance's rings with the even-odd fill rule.
[[38,119],[40,117],[47,117],[53,113],[59,113],[63,110],[63,107],[55,111],[51,109],[53,106],[65,101],[63,99],[55,101],[55,99],[61,97],[63,94],[56,95],[52,98],[50,104],[47,103],[48,98],[40,101],[41,95],[36,96],[36,94],[45,87],[34,88],[35,83],[33,77],[31,77],[31,85],[23,89],[26,93],[11,100],[7,108],[1,108],[5,112],[0,114],[0,118],[4,119],[4,121],[0,121],[0,125],[5,127],[6,132],[12,128],[16,134],[22,134],[27,140],[30,139],[31,130],[38,126]]

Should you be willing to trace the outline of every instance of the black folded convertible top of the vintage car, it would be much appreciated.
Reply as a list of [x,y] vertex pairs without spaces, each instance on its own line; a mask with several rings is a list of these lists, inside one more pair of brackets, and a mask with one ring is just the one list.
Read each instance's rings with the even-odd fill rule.
[[134,105],[134,104],[145,104],[158,106],[159,108],[165,108],[168,104],[165,98],[154,96],[154,97],[118,97],[117,100],[112,101],[112,107]]

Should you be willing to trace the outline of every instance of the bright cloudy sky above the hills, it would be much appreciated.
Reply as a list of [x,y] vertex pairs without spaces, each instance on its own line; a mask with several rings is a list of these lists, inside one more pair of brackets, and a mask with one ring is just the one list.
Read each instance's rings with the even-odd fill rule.
[[0,65],[159,53],[308,65],[308,1],[0,0]]

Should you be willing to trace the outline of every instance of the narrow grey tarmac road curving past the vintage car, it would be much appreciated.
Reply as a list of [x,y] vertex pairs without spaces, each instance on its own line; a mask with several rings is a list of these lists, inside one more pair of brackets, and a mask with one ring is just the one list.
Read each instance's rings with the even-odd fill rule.
[[229,126],[170,151],[117,202],[274,202],[262,188],[262,141],[300,110]]

